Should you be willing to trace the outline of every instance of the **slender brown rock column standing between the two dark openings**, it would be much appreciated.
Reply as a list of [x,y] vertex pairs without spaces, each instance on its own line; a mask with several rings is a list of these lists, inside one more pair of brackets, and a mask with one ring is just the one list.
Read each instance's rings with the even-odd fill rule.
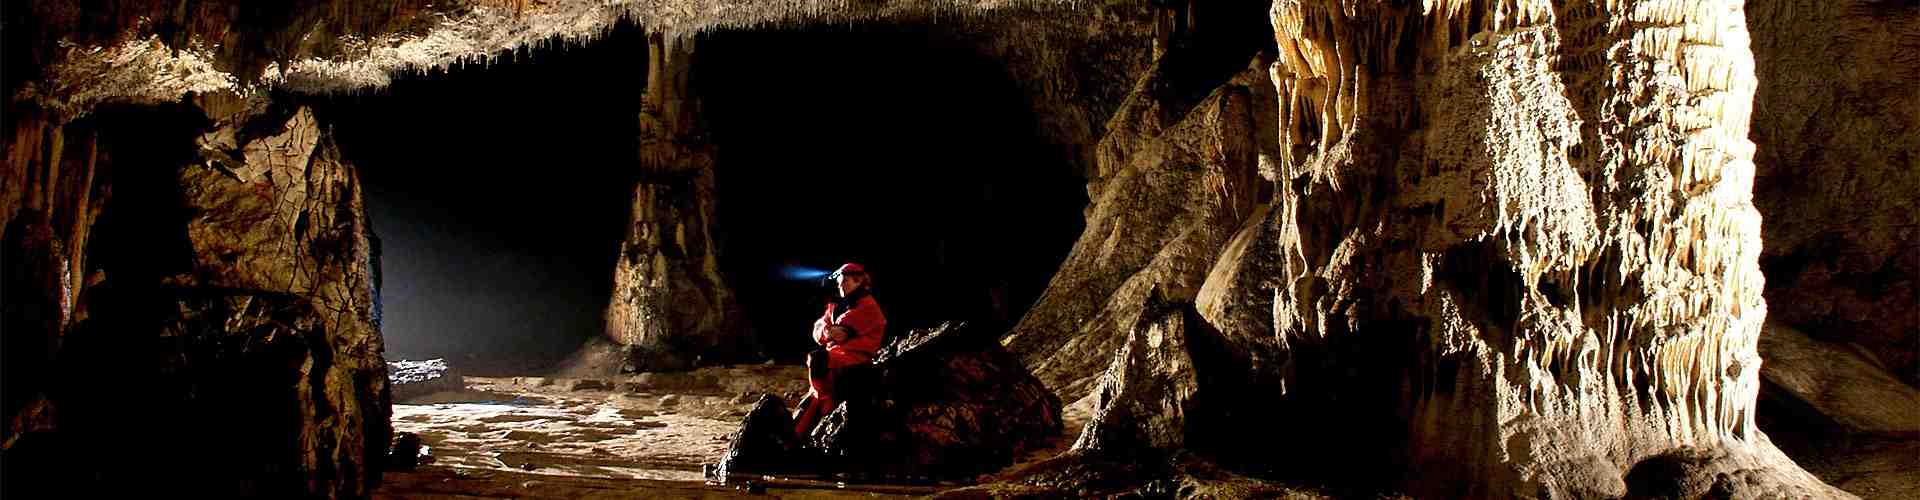
[[[691,63],[691,35],[649,37],[641,181],[607,306],[607,340],[614,348],[588,346],[574,371],[685,369],[703,358],[737,354],[739,306],[720,277],[712,238],[714,148],[689,88]],[[611,352],[620,356],[605,356]]]

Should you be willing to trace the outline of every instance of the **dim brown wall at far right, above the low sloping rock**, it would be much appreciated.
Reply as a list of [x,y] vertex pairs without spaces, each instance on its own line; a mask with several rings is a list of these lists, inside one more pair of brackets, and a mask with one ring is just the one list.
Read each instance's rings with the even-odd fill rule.
[[1920,385],[1920,8],[1747,2],[1772,319]]

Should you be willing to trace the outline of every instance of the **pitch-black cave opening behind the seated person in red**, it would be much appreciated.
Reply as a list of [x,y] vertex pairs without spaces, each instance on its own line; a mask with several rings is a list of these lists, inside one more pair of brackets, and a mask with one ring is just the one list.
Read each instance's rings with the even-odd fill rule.
[[1006,323],[1083,229],[1085,181],[977,48],[899,25],[699,42],[722,267],[770,356],[812,348],[829,294],[785,269],[866,265],[891,333]]

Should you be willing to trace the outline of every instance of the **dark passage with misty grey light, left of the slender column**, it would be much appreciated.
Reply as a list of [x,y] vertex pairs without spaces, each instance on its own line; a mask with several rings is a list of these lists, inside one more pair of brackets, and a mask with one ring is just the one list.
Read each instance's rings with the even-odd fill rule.
[[620,27],[321,106],[382,242],[390,360],[526,375],[599,335],[645,46]]

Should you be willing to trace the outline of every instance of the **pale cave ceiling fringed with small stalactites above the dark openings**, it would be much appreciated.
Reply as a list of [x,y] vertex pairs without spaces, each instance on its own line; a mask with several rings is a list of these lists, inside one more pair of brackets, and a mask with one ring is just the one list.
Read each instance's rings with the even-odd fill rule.
[[[21,19],[19,33],[8,38],[19,44],[15,54],[25,56],[23,69],[8,71],[4,87],[21,90],[8,98],[40,100],[75,113],[104,102],[171,102],[209,88],[273,87],[307,94],[367,90],[388,85],[396,73],[492,63],[499,54],[530,46],[588,42],[622,21],[691,35],[852,21],[977,25],[977,17],[996,15],[1000,23],[1046,19],[1056,37],[1112,37],[1091,29],[1083,21],[1085,6],[1073,2],[511,4],[513,8],[497,2],[328,0],[259,8],[242,0],[136,2],[117,6],[115,15],[88,15],[67,0],[29,0],[15,12]],[[242,6],[250,8],[248,15],[234,13]],[[65,50],[60,42],[75,44],[75,50]],[[1144,52],[1148,46],[1139,48]],[[54,77],[23,85],[42,73]],[[1060,90],[1048,88],[1056,94]],[[1068,133],[1075,129],[1066,127]]]

